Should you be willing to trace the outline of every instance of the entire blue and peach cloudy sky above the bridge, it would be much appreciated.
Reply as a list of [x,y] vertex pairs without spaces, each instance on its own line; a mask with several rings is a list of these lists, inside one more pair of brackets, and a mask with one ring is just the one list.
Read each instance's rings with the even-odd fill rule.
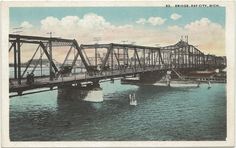
[[188,35],[204,53],[225,55],[225,8],[12,7],[10,33],[74,38],[79,44],[127,43],[165,46]]

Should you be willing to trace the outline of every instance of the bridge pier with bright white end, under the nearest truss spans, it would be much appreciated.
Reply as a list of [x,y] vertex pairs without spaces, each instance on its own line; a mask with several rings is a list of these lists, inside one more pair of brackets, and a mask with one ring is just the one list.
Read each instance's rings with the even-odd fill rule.
[[98,81],[87,84],[75,83],[73,85],[58,87],[57,98],[74,101],[102,102],[103,92]]

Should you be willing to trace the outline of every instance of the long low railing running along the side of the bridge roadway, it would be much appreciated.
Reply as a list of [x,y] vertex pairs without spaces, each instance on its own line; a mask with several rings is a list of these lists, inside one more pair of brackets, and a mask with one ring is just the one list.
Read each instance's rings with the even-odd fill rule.
[[[106,70],[102,72],[96,72],[96,73],[79,73],[79,74],[70,74],[68,76],[60,76],[58,78],[54,78],[53,80],[49,80],[49,78],[40,77],[35,78],[34,83],[30,85],[37,85],[37,84],[50,84],[50,83],[63,83],[63,82],[70,82],[70,81],[89,81],[91,79],[106,79],[106,78],[112,78],[112,77],[123,77],[125,75],[134,75],[144,72],[152,72],[152,71],[158,71],[158,70],[171,70],[172,68],[200,68],[203,65],[188,65],[188,64],[182,64],[179,66],[175,66],[173,64],[163,64],[163,65],[150,65],[145,67],[130,67],[126,69],[114,69],[114,70]],[[10,81],[10,88],[11,87],[17,87],[19,86],[17,80]],[[29,86],[27,84],[27,80],[23,79],[21,86]]]

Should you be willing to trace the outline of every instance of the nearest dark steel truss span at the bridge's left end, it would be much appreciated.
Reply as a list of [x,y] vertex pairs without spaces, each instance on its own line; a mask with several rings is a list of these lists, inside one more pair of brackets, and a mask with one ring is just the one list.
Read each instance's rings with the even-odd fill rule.
[[[81,53],[81,48],[79,47],[76,40],[71,39],[62,39],[62,38],[52,38],[52,37],[38,37],[38,36],[25,36],[25,35],[9,35],[9,42],[11,43],[9,52],[14,49],[14,78],[18,79],[18,83],[21,84],[21,79],[24,77],[25,72],[27,71],[28,67],[31,64],[31,61],[35,57],[36,53],[38,52],[39,48],[43,50],[43,53],[46,55],[47,59],[49,60],[49,68],[50,68],[50,79],[53,78],[53,75],[58,72],[58,68],[52,59],[52,48],[53,47],[63,47],[63,46],[71,46],[77,50],[76,56],[72,62],[72,67],[75,65],[75,61],[77,60],[78,56],[84,62],[84,57]],[[27,66],[23,73],[21,73],[21,46],[22,44],[34,44],[38,45],[38,48],[35,50],[32,58],[27,63]],[[47,48],[49,48],[47,50]],[[67,57],[66,57],[67,58]],[[66,59],[65,59],[66,60]],[[36,64],[37,66],[38,64]],[[87,64],[84,63],[85,68],[87,68]],[[34,67],[34,69],[36,68]],[[53,72],[54,71],[54,72]],[[54,73],[54,74],[53,74]]]

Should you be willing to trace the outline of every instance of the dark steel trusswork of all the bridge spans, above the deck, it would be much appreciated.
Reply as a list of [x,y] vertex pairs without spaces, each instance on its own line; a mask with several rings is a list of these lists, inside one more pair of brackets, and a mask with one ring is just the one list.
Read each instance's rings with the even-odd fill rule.
[[[149,47],[116,43],[79,45],[74,39],[10,34],[9,42],[11,43],[9,52],[12,51],[12,49],[14,52],[14,78],[18,79],[19,84],[39,48],[43,50],[43,54],[46,55],[50,62],[50,78],[53,77],[53,70],[55,73],[59,71],[52,58],[52,48],[64,46],[70,47],[70,49],[65,56],[62,67],[65,65],[71,51],[74,49],[76,50],[76,53],[70,66],[73,68],[80,57],[84,68],[89,74],[107,70],[125,70],[128,68],[146,69],[147,67],[152,68],[162,65],[167,65],[172,68],[207,68],[226,66],[226,58],[209,54],[205,55],[195,46],[189,45],[184,41],[166,47]],[[21,74],[22,44],[38,45],[23,74]],[[86,53],[91,49],[95,51],[94,62],[90,60]],[[104,57],[100,56],[100,49],[106,49],[106,52],[103,53]],[[99,70],[98,66],[100,66]]]

